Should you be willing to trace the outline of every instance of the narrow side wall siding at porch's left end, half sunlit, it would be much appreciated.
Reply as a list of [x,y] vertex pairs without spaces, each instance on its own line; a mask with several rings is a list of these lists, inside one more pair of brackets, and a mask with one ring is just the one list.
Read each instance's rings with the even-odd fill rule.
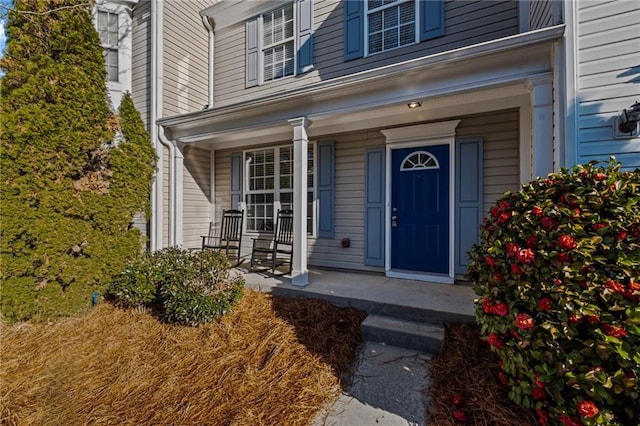
[[184,247],[199,248],[201,235],[209,230],[210,211],[209,151],[186,147],[183,172],[183,231]]

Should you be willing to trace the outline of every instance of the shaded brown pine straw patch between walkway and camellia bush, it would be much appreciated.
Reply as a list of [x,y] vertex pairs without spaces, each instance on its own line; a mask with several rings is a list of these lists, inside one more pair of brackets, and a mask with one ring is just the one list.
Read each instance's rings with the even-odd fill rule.
[[[530,411],[509,400],[497,373],[498,357],[480,340],[479,328],[470,324],[448,327],[442,351],[431,359],[429,376],[430,425],[461,425],[453,413],[462,410],[468,425],[534,426]],[[454,396],[462,403],[454,405]]]

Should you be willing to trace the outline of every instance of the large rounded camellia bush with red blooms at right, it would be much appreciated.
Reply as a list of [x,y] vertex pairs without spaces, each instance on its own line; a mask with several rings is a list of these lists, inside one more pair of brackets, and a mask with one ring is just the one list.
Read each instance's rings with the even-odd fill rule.
[[640,424],[640,171],[614,159],[506,193],[469,277],[509,397],[540,424]]

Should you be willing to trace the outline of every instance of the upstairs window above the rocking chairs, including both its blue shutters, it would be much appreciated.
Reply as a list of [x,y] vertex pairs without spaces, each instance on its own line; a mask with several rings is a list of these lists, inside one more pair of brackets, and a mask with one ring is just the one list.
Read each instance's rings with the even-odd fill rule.
[[246,86],[313,69],[313,3],[295,0],[246,22]]

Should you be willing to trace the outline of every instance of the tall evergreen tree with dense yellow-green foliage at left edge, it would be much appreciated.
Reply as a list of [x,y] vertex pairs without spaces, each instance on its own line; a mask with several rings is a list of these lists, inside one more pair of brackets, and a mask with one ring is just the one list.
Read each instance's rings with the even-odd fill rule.
[[[82,0],[17,0],[0,60],[0,311],[44,319],[91,305],[141,251],[155,154],[126,96],[109,108]],[[126,118],[125,118],[126,117]],[[124,140],[114,144],[114,136]],[[131,138],[129,142],[127,138]]]

